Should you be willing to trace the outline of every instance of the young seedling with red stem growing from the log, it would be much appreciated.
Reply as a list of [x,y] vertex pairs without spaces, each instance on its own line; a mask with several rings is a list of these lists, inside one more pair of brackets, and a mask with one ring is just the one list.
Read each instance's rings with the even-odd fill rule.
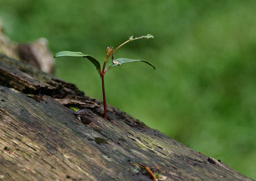
[[[104,105],[104,118],[107,119],[108,115],[107,115],[107,104],[106,104],[106,96],[105,96],[105,85],[104,85],[104,76],[107,73],[107,71],[117,65],[121,65],[121,64],[125,64],[125,63],[129,63],[129,62],[136,62],[136,61],[142,61],[145,62],[149,65],[151,65],[154,69],[154,65],[152,65],[151,63],[149,63],[148,61],[145,60],[135,60],[135,59],[128,59],[128,58],[117,58],[116,60],[114,60],[114,52],[117,51],[121,46],[123,46],[124,44],[133,41],[133,40],[138,40],[141,38],[154,38],[153,35],[151,34],[147,34],[146,36],[140,36],[140,37],[136,37],[133,38],[133,36],[130,36],[129,40],[127,40],[126,42],[122,43],[121,45],[119,45],[115,50],[113,50],[113,47],[107,47],[107,52],[106,52],[106,57],[104,60],[104,64],[101,70],[101,65],[99,63],[98,60],[96,60],[95,58],[93,58],[91,55],[86,55],[83,54],[82,52],[70,52],[70,51],[61,51],[58,52],[54,55],[54,58],[56,57],[64,57],[64,56],[71,56],[71,57],[83,57],[83,58],[87,58],[89,61],[91,61],[95,67],[96,70],[98,70],[98,73],[101,76],[101,82],[102,82],[102,93],[103,93],[103,105]],[[108,67],[106,67],[106,63],[108,62],[108,59],[111,57],[112,61],[110,64],[108,64]],[[106,68],[105,68],[106,67]]]

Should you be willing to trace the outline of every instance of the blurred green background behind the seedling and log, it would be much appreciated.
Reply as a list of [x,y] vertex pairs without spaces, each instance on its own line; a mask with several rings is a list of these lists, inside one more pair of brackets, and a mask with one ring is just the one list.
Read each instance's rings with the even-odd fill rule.
[[[0,0],[11,40],[45,37],[52,52],[81,51],[111,69],[107,102],[154,129],[256,179],[256,1]],[[56,76],[102,99],[101,79],[83,58],[57,58]]]

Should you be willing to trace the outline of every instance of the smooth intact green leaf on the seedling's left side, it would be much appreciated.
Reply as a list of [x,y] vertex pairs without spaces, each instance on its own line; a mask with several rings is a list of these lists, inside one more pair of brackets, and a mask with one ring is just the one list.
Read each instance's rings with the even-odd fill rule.
[[95,65],[97,70],[101,69],[101,66],[98,60],[93,58],[91,55],[86,55],[86,54],[83,54],[82,52],[61,51],[56,53],[53,57],[56,58],[56,57],[64,57],[64,56],[87,58],[89,61],[91,61]]

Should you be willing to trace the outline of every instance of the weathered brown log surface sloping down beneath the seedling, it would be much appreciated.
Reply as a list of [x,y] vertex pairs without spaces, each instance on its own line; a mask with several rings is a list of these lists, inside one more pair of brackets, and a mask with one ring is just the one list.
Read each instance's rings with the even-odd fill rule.
[[4,55],[0,85],[0,180],[252,180]]

